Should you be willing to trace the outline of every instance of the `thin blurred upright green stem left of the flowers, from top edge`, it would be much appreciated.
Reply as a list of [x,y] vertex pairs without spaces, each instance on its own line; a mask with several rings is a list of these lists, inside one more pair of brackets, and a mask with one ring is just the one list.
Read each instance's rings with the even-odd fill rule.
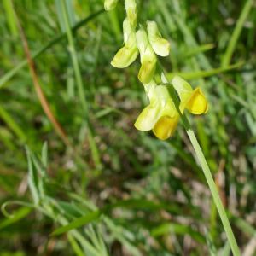
[[74,73],[75,73],[75,78],[77,80],[78,89],[79,89],[79,100],[82,105],[84,119],[86,121],[86,125],[88,128],[88,136],[89,136],[91,154],[92,154],[92,158],[94,160],[95,166],[97,168],[100,168],[101,167],[100,155],[99,155],[98,148],[96,147],[96,143],[93,138],[93,132],[92,132],[92,128],[90,125],[89,114],[88,114],[89,113],[88,104],[86,102],[86,97],[85,97],[85,93],[84,93],[83,79],[82,79],[82,75],[81,75],[80,68],[79,68],[79,60],[78,60],[78,56],[76,53],[74,40],[73,40],[73,33],[72,33],[72,30],[71,30],[71,27],[69,24],[69,20],[67,17],[67,8],[64,3],[64,0],[61,0],[61,9],[62,9],[64,21],[65,21],[65,26],[67,29],[67,41],[69,44],[69,51],[70,51],[71,58],[73,61],[73,69],[74,69]]

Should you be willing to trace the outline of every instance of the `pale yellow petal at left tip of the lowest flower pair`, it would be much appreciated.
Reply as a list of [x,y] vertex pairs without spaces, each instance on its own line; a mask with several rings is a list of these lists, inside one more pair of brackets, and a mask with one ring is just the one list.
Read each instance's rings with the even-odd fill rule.
[[134,126],[140,131],[152,130],[154,124],[160,117],[160,106],[159,104],[150,104],[147,108],[143,109],[143,112],[137,118]]

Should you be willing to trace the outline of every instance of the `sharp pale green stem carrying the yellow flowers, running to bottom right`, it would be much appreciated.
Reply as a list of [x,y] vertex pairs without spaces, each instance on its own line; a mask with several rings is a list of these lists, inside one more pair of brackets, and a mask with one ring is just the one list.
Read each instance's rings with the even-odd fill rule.
[[208,183],[209,188],[211,190],[213,200],[215,201],[216,207],[218,209],[219,216],[220,216],[221,221],[224,225],[224,230],[225,230],[225,232],[228,236],[228,239],[230,241],[230,247],[232,249],[232,252],[233,252],[234,256],[240,256],[241,254],[240,254],[239,248],[237,246],[235,236],[234,236],[233,231],[231,229],[230,222],[227,218],[227,215],[226,215],[226,212],[224,210],[222,201],[220,200],[220,197],[218,195],[218,189],[216,188],[216,185],[213,181],[212,173],[209,169],[209,166],[207,165],[207,160],[206,160],[204,154],[202,153],[201,147],[200,147],[200,145],[199,145],[199,143],[198,143],[198,141],[195,137],[195,133],[192,130],[191,125],[189,124],[189,119],[187,118],[185,113],[184,114],[180,113],[179,100],[178,100],[176,91],[175,91],[172,83],[167,79],[166,73],[165,73],[163,67],[161,66],[159,60],[157,60],[156,66],[157,66],[157,72],[159,73],[160,78],[162,79],[162,81],[165,84],[169,85],[168,90],[170,91],[172,101],[173,101],[173,103],[175,105],[175,108],[177,109],[178,113],[180,114],[181,119],[183,120],[183,125],[184,125],[184,127],[185,127],[185,129],[188,133],[189,139],[190,139],[193,147],[195,148],[195,153],[197,154],[197,157],[201,162],[201,168],[202,168],[202,170],[203,170],[203,172],[204,172],[204,174],[207,178],[207,183]]

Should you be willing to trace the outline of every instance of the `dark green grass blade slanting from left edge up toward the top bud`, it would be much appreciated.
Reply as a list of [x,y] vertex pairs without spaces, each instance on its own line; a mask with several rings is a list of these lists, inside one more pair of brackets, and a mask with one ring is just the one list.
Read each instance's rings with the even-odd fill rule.
[[[72,27],[72,31],[76,31],[79,29],[79,27],[83,26],[84,24],[88,23],[90,20],[93,20],[97,15],[102,14],[104,9],[99,10],[93,15],[90,15],[88,18],[81,20],[76,26]],[[62,39],[67,37],[67,33],[63,33],[60,36],[54,38],[52,41],[49,42],[49,44],[44,45],[40,49],[38,49],[35,53],[31,55],[32,60],[38,57],[38,55],[41,55],[46,49],[49,49],[54,44],[58,43]],[[1,79],[0,79],[0,89],[3,87],[3,84],[5,84],[9,79],[11,79],[15,73],[19,72],[22,67],[25,67],[26,64],[28,64],[27,60],[21,61],[17,66],[15,66],[13,69],[11,69],[8,73],[5,73]]]

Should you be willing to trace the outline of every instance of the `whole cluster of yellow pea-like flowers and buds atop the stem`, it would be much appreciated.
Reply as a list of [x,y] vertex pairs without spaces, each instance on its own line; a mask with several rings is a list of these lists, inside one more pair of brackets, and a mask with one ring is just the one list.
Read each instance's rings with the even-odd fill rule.
[[[105,0],[105,9],[115,8],[118,2],[118,0]],[[127,13],[123,23],[125,46],[119,49],[111,64],[118,68],[128,67],[140,54],[142,66],[138,79],[143,83],[150,103],[137,118],[135,127],[140,131],[153,130],[156,137],[166,140],[176,130],[179,111],[183,114],[184,108],[187,108],[190,113],[207,113],[207,100],[201,88],[197,87],[193,90],[185,79],[175,76],[172,84],[180,98],[179,111],[175,108],[166,86],[154,82],[156,55],[169,55],[171,44],[162,38],[154,21],[147,21],[145,26],[139,25],[136,31],[138,13],[136,0],[125,0],[125,10]]]

